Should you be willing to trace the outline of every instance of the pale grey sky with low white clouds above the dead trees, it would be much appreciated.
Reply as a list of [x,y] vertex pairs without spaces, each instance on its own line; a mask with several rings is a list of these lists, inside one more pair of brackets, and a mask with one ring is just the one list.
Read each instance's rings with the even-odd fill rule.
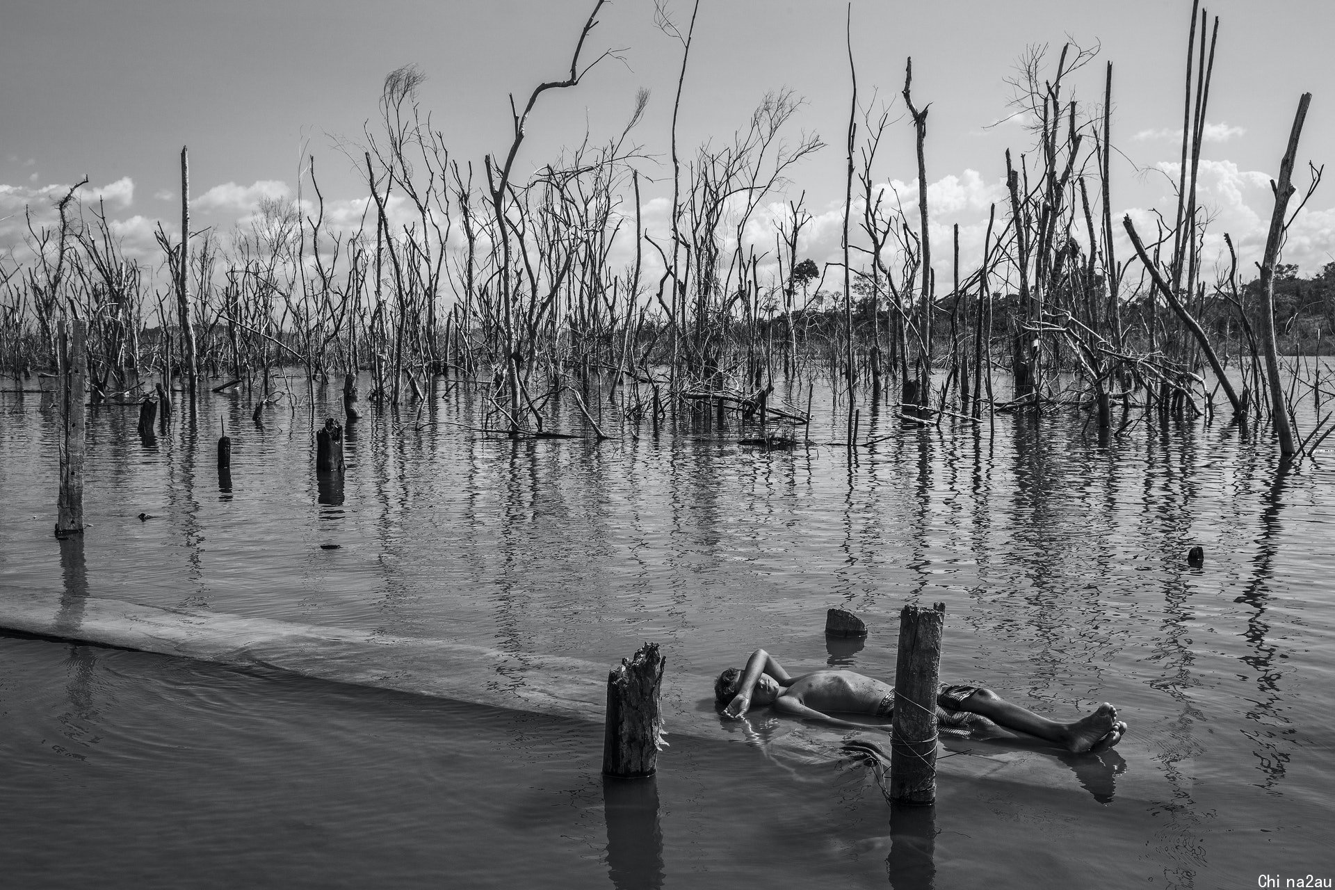
[[[426,75],[423,112],[445,133],[451,156],[481,169],[510,143],[509,96],[523,103],[542,80],[566,75],[593,0],[7,0],[0,28],[0,256],[24,255],[24,207],[49,217],[52,196],[83,176],[85,205],[101,197],[131,256],[160,262],[152,231],[180,226],[182,145],[190,147],[194,223],[226,236],[262,196],[310,196],[303,157],[314,155],[320,188],[340,219],[364,207],[356,167],[363,128],[375,127],[384,76],[409,63]],[[669,0],[685,29],[692,0]],[[1207,262],[1230,231],[1244,267],[1259,259],[1270,220],[1270,179],[1278,173],[1302,92],[1314,93],[1299,149],[1307,160],[1335,155],[1335,71],[1328,0],[1207,4],[1220,17],[1219,49],[1202,164],[1203,203],[1214,216]],[[917,171],[913,129],[898,97],[913,59],[913,97],[930,103],[926,180],[939,278],[949,226],[961,226],[964,260],[981,250],[992,201],[1004,215],[1004,151],[1019,156],[1032,136],[1012,108],[1017,60],[1033,45],[1055,59],[1072,40],[1099,45],[1072,79],[1073,96],[1103,101],[1104,63],[1113,64],[1113,205],[1141,227],[1151,211],[1171,216],[1180,145],[1189,0],[1012,3],[941,0],[701,0],[682,100],[684,151],[728,140],[766,93],[805,99],[792,123],[828,143],[790,175],[785,195],[805,192],[813,224],[800,252],[838,256],[850,76],[845,16],[858,97],[889,103],[892,124],[876,176],[893,183],[910,209]],[[553,160],[585,133],[619,132],[639,88],[650,91],[633,132],[649,157],[645,219],[666,230],[673,95],[681,44],[654,25],[651,0],[603,8],[585,59],[605,59],[573,89],[546,93],[527,127],[517,169]],[[1071,93],[1068,93],[1071,95]],[[997,123],[1001,121],[1001,123]],[[45,216],[44,216],[45,215]],[[1144,234],[1144,230],[1143,230]],[[1304,274],[1335,262],[1335,183],[1322,185],[1294,224],[1284,262]],[[1254,271],[1254,268],[1252,268]]]

